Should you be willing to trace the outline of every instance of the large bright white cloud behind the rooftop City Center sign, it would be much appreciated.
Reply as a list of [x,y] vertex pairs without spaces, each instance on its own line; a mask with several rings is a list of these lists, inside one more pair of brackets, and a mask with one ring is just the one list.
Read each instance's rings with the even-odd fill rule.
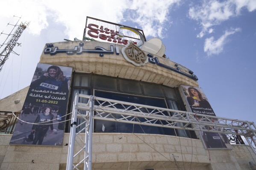
[[[27,31],[40,35],[49,20],[66,27],[69,38],[81,37],[86,16],[120,23],[130,20],[144,29],[146,36],[162,37],[168,22],[168,10],[179,0],[12,0],[1,3],[1,18],[11,18],[13,13],[22,21],[31,21]],[[123,14],[128,14],[123,16]],[[171,22],[170,22],[171,23]],[[168,24],[166,24],[168,25]],[[3,28],[0,26],[0,29]]]

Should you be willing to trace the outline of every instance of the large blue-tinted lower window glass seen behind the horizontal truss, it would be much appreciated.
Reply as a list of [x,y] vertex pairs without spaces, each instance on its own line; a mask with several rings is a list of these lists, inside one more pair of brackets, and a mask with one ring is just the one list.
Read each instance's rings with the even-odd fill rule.
[[[163,107],[166,108],[165,100],[159,98],[144,98],[138,96],[131,96],[131,95],[122,95],[117,93],[109,93],[109,92],[99,92],[95,91],[96,96],[102,98],[110,98],[113,100],[118,101],[126,101],[130,103],[136,104],[145,104],[150,106],[156,107]],[[126,106],[126,105],[125,105]],[[115,104],[116,108],[122,109],[123,106],[121,104]],[[129,109],[135,109],[134,107],[129,107]],[[140,109],[142,112],[152,112],[152,109],[143,110]],[[168,115],[167,112],[163,112],[164,114]],[[106,113],[107,114],[107,113]],[[106,116],[103,115],[102,116]],[[121,115],[112,114],[115,118],[123,118]],[[127,118],[128,120],[132,120],[131,118]],[[149,119],[150,120],[150,119]],[[144,118],[138,118],[134,121],[145,121]],[[160,121],[155,122],[156,124],[161,124]],[[162,123],[165,123],[162,121]],[[94,120],[94,132],[109,132],[109,133],[150,133],[150,134],[163,134],[163,135],[175,135],[173,129],[163,128],[163,127],[153,127],[153,126],[146,126],[146,125],[138,125],[138,124],[128,124],[128,123],[120,123],[120,122],[109,122],[103,120]]]

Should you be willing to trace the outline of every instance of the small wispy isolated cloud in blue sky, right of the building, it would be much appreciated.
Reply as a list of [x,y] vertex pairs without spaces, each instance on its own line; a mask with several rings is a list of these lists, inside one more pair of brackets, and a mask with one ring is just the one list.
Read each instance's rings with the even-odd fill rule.
[[240,31],[240,28],[227,30],[218,40],[214,40],[214,37],[206,38],[204,52],[207,53],[208,57],[211,55],[218,55],[223,51],[223,47],[225,43],[227,43],[227,37]]

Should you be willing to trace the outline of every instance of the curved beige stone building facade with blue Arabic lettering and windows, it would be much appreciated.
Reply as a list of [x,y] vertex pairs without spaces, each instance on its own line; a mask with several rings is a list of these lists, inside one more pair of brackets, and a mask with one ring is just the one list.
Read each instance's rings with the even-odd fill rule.
[[[79,52],[76,46],[82,46],[84,51]],[[46,44],[40,63],[73,68],[68,112],[76,92],[123,98],[129,102],[136,98],[140,104],[150,105],[151,102],[156,107],[189,111],[180,85],[198,87],[193,72],[179,63],[147,52],[144,53],[149,62],[135,66],[124,58],[122,48],[124,46],[114,43],[93,41]],[[2,99],[0,106],[21,110],[22,106],[14,108],[10,101],[24,98],[26,91],[23,89]],[[9,145],[12,135],[0,135],[0,170],[66,169],[69,126],[67,123],[61,147]],[[248,162],[256,159],[247,145],[234,145],[230,150],[206,150],[196,133],[191,136],[186,131],[174,130],[168,134],[170,131],[162,133],[165,132],[162,129],[158,129],[159,133],[154,133],[155,129],[149,133],[128,133],[122,128],[110,127],[121,125],[112,123],[107,127],[105,124],[103,130],[101,127],[97,129],[94,121],[93,170],[250,170]],[[83,156],[79,155],[74,162],[78,163]]]

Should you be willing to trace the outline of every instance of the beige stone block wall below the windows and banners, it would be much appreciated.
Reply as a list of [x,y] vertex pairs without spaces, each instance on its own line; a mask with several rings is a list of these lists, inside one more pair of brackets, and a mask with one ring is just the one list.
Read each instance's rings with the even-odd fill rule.
[[[10,138],[0,135],[0,170],[65,170],[68,145],[9,146]],[[69,134],[65,133],[63,145],[68,141]],[[94,133],[92,147],[93,170],[250,170],[248,162],[256,158],[247,145],[208,152],[200,140],[168,135]],[[76,145],[75,151],[80,149]],[[79,154],[74,163],[83,157]]]

